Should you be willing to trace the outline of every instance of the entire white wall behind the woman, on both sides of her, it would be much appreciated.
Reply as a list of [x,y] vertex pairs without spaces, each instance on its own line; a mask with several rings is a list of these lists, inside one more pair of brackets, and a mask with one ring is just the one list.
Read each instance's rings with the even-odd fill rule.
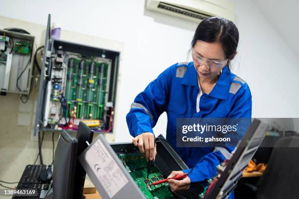
[[[299,117],[299,60],[251,0],[235,1],[240,32],[235,73],[249,84],[254,117]],[[53,4],[53,2],[55,4]],[[137,93],[166,67],[186,61],[197,24],[144,9],[144,0],[1,0],[2,16],[45,24],[125,44],[116,141],[130,141],[126,114]],[[271,9],[271,7],[269,8]],[[3,106],[3,105],[1,105]],[[166,131],[162,115],[156,134]]]

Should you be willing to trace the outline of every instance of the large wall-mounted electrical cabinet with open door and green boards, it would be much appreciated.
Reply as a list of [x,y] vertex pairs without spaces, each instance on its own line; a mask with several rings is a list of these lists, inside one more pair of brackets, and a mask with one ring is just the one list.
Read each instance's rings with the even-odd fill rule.
[[77,131],[80,121],[95,133],[112,133],[120,52],[49,35],[47,31],[35,135]]

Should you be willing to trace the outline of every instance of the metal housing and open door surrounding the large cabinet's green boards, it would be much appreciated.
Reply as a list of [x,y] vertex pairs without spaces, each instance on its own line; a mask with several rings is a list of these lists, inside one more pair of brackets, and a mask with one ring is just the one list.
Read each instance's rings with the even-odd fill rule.
[[[116,88],[117,88],[117,77],[118,77],[118,68],[119,68],[119,58],[120,58],[120,52],[117,51],[112,51],[112,50],[107,50],[99,47],[94,47],[94,46],[89,46],[85,44],[76,44],[73,42],[68,42],[68,41],[63,41],[63,40],[57,40],[57,39],[51,39],[50,37],[50,15],[48,16],[48,23],[47,23],[47,30],[46,30],[46,38],[45,38],[45,43],[44,43],[44,50],[43,50],[43,64],[42,64],[42,73],[41,73],[41,80],[40,80],[40,86],[39,86],[39,96],[38,96],[38,103],[37,103],[37,113],[36,113],[36,120],[35,120],[35,127],[34,127],[34,136],[37,135],[39,131],[61,131],[61,128],[59,125],[59,122],[61,122],[61,118],[58,120],[59,117],[65,118],[65,123],[67,123],[67,118],[68,121],[71,121],[71,115],[73,115],[72,111],[70,110],[71,108],[68,107],[69,104],[66,106],[67,112],[60,112],[61,115],[58,113],[56,114],[56,123],[55,125],[52,125],[52,121],[49,120],[49,115],[52,114],[51,110],[51,105],[52,105],[52,94],[53,94],[53,87],[55,86],[53,83],[53,77],[55,73],[55,59],[57,63],[58,55],[61,52],[64,52],[64,55],[67,54],[67,56],[72,57],[73,55],[80,55],[82,56],[82,60],[85,59],[85,57],[96,57],[98,60],[105,60],[107,63],[107,71],[106,71],[106,77],[105,77],[105,91],[104,93],[104,98],[105,102],[103,102],[103,107],[101,108],[101,120],[99,120],[101,123],[101,128],[98,128],[98,130],[94,130],[95,133],[112,133],[113,132],[113,118],[114,118],[114,110],[116,107]],[[72,58],[69,58],[72,59]],[[64,64],[64,61],[63,61]],[[106,66],[106,65],[105,65]],[[89,66],[85,66],[87,68]],[[104,67],[104,66],[103,66]],[[62,85],[64,87],[64,93],[66,92],[66,79],[69,78],[67,75],[67,70],[69,69],[68,67],[64,67],[65,71],[63,69],[63,74],[64,74],[64,79],[62,80]],[[85,70],[85,69],[84,69]],[[87,69],[88,70],[88,69]],[[86,70],[86,71],[87,71]],[[91,71],[91,69],[89,69]],[[100,69],[99,69],[100,70]],[[92,75],[91,75],[92,76]],[[84,76],[84,78],[86,75]],[[95,77],[95,76],[93,76]],[[79,78],[79,77],[78,77]],[[87,77],[86,77],[87,78]],[[92,78],[92,77],[91,77]],[[72,80],[71,78],[69,78]],[[87,81],[87,79],[86,79]],[[78,80],[79,82],[79,80]],[[88,79],[88,84],[90,83],[90,80]],[[79,84],[79,83],[78,83]],[[75,85],[76,86],[76,85]],[[100,85],[101,86],[101,85]],[[96,87],[96,84],[95,84]],[[83,88],[82,88],[83,89]],[[94,89],[92,89],[94,90]],[[85,90],[85,95],[86,96],[86,91]],[[96,97],[96,92],[91,95],[92,99]],[[93,97],[94,96],[94,97]],[[64,97],[64,96],[63,96]],[[66,98],[66,97],[65,97]],[[56,104],[59,105],[57,108],[58,111],[60,111],[60,108],[62,107],[62,101],[61,99],[56,99]],[[64,99],[65,100],[65,99]],[[76,104],[74,106],[77,106],[79,102],[82,102],[82,99],[73,99],[72,103]],[[83,100],[82,103],[87,104]],[[60,105],[61,104],[61,105]],[[84,104],[84,105],[85,105]],[[88,104],[89,105],[89,104]],[[87,105],[86,105],[87,106]],[[112,108],[113,109],[112,109]],[[91,107],[92,108],[92,107]],[[111,108],[111,110],[110,110]],[[77,108],[75,108],[76,111]],[[68,115],[68,116],[66,116]],[[78,113],[77,113],[78,115]],[[95,117],[93,114],[85,114],[87,119],[94,119]],[[75,116],[75,119],[73,120],[73,124],[79,123],[80,121],[86,119],[83,117],[77,117]],[[52,120],[52,118],[50,118]],[[54,118],[55,119],[55,118]],[[52,122],[52,123],[51,123]],[[68,123],[69,123],[68,122]],[[108,124],[109,123],[109,124]],[[110,125],[110,126],[108,126]],[[57,127],[58,126],[58,127]],[[112,127],[112,128],[111,128]],[[76,131],[76,129],[64,129],[66,131]]]

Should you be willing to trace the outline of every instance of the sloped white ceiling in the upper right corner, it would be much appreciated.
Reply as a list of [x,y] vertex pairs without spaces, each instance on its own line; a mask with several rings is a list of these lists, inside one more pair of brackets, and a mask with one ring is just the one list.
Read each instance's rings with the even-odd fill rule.
[[299,57],[299,0],[253,0],[253,2]]

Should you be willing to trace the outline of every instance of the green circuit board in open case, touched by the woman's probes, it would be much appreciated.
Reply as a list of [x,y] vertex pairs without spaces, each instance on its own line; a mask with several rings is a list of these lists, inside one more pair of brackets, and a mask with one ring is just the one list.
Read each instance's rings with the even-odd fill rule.
[[149,178],[147,178],[148,162],[144,155],[136,152],[118,154],[118,157],[147,199],[174,198],[167,182],[148,186],[150,183],[163,179],[164,177],[152,163]]

